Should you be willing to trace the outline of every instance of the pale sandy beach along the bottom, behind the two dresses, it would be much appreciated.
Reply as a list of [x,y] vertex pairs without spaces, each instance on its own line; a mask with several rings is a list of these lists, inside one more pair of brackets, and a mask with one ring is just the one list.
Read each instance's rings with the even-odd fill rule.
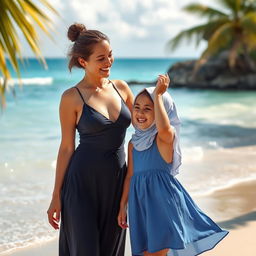
[[[194,198],[198,205],[218,224],[229,230],[228,236],[205,256],[256,255],[256,181],[247,181],[210,195]],[[57,256],[58,241],[15,249],[2,256]],[[131,256],[129,237],[126,254]]]

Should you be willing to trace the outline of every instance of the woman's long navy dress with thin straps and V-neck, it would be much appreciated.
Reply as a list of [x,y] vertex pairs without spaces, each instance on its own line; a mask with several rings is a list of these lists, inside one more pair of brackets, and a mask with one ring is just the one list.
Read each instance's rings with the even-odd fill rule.
[[127,171],[124,138],[130,111],[119,94],[121,111],[113,122],[87,105],[75,88],[84,105],[77,124],[80,144],[61,192],[59,256],[123,256],[125,231],[117,215]]

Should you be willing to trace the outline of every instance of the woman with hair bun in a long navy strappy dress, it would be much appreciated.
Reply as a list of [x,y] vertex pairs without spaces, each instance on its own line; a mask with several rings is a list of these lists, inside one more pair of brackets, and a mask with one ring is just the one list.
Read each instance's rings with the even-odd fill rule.
[[121,256],[125,233],[116,217],[133,94],[124,81],[108,80],[114,58],[106,35],[73,24],[68,38],[74,42],[69,69],[83,68],[85,76],[61,98],[62,139],[48,219],[58,229],[61,213],[60,256]]

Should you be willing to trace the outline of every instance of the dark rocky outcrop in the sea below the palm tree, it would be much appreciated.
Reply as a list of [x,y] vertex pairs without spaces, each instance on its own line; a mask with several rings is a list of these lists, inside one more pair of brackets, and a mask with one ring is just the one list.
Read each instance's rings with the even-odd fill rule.
[[195,60],[174,64],[168,70],[172,87],[256,90],[256,72],[248,71],[242,57],[233,71],[228,67],[226,54],[207,61],[196,75],[193,72],[195,64]]

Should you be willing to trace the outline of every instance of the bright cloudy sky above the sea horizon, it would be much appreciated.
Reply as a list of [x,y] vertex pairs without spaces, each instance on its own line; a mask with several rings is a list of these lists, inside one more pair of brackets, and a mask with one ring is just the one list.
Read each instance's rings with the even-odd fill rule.
[[[35,1],[37,2],[37,1]],[[198,57],[206,43],[197,48],[193,41],[184,42],[175,51],[167,50],[167,42],[183,29],[204,22],[201,17],[187,14],[182,7],[200,2],[216,7],[214,0],[51,0],[61,17],[53,20],[54,42],[39,33],[45,57],[66,57],[72,42],[66,34],[74,22],[87,29],[97,29],[110,38],[115,57]],[[21,36],[22,38],[22,36]],[[33,56],[22,39],[24,56]]]

